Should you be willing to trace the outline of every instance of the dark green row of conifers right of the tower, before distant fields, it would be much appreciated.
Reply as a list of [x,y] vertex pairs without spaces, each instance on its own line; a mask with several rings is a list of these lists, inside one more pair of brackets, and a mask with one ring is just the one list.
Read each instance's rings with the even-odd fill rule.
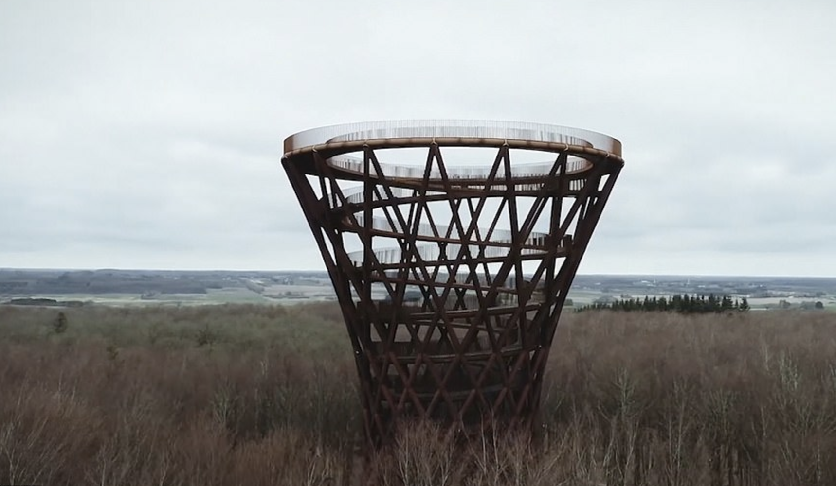
[[578,311],[607,310],[607,311],[660,311],[680,312],[681,314],[706,314],[710,312],[748,311],[749,301],[746,297],[734,299],[730,296],[690,296],[683,294],[668,297],[650,297],[644,299],[631,297],[611,302],[598,302],[583,306]]

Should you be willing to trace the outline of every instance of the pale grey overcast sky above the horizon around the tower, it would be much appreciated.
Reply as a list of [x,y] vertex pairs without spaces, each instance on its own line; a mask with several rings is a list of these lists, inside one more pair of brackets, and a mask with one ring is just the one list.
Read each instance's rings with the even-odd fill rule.
[[323,269],[289,134],[621,140],[582,273],[836,276],[836,2],[0,0],[0,267]]

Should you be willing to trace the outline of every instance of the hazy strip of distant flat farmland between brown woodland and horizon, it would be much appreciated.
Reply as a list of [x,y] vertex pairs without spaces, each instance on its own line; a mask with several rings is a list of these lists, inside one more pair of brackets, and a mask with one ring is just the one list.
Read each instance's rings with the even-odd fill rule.
[[[753,309],[821,301],[836,311],[836,279],[798,277],[584,276],[568,298],[575,306],[599,299],[644,296],[747,297]],[[22,271],[0,269],[0,302],[13,298],[91,301],[109,306],[285,304],[334,301],[323,271]],[[385,299],[383,293],[376,298]]]

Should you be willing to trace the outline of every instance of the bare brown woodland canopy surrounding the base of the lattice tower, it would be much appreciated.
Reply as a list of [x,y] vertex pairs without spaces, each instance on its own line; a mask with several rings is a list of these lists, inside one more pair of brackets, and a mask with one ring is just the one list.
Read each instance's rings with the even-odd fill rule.
[[[0,307],[0,483],[359,484],[339,310]],[[836,314],[584,312],[538,445],[411,424],[386,486],[836,483]]]

